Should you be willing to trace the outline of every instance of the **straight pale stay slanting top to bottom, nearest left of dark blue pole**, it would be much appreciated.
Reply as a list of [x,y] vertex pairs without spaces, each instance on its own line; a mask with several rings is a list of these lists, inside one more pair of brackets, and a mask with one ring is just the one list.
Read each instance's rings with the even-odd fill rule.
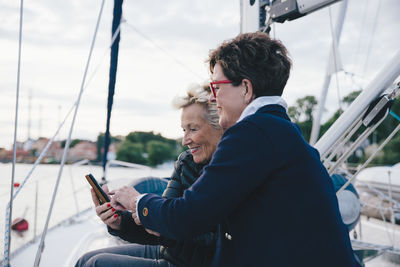
[[74,125],[75,125],[75,119],[76,119],[76,115],[78,113],[81,96],[82,96],[82,93],[83,93],[83,90],[84,90],[86,75],[87,75],[87,72],[88,72],[88,69],[89,69],[89,63],[90,63],[90,59],[91,59],[91,56],[92,56],[94,44],[95,44],[95,41],[96,41],[96,36],[97,36],[98,29],[99,29],[101,15],[103,13],[104,2],[105,2],[105,0],[103,0],[102,3],[101,3],[99,16],[97,18],[96,28],[95,28],[92,44],[91,44],[91,47],[90,47],[88,60],[87,60],[87,63],[86,63],[85,73],[84,73],[83,79],[82,79],[81,89],[80,89],[80,92],[79,92],[79,96],[78,96],[78,100],[77,100],[77,104],[76,104],[76,108],[75,108],[74,117],[73,117],[73,120],[72,120],[72,123],[71,123],[71,128],[70,128],[70,131],[69,131],[69,134],[68,134],[68,139],[67,139],[67,142],[65,144],[64,153],[63,153],[63,157],[62,157],[62,160],[61,160],[60,169],[59,169],[59,172],[58,172],[57,182],[56,182],[56,186],[55,186],[54,192],[53,192],[53,198],[51,200],[49,213],[48,213],[47,219],[46,219],[46,224],[45,224],[45,227],[44,227],[44,230],[43,230],[43,234],[42,234],[42,237],[41,237],[41,240],[40,240],[40,244],[39,244],[39,247],[38,247],[38,250],[37,250],[37,253],[36,253],[36,258],[35,258],[35,263],[34,263],[35,267],[39,266],[40,257],[41,257],[42,251],[44,249],[44,240],[46,238],[46,233],[47,233],[47,229],[48,229],[48,226],[49,226],[51,213],[53,211],[54,201],[55,201],[55,198],[56,198],[56,195],[57,195],[57,189],[58,189],[58,186],[59,186],[59,183],[60,183],[60,178],[61,178],[63,167],[64,167],[64,164],[65,164],[65,160],[67,158],[69,145],[71,143],[71,135],[72,135],[72,131],[73,131],[73,128],[74,128]]

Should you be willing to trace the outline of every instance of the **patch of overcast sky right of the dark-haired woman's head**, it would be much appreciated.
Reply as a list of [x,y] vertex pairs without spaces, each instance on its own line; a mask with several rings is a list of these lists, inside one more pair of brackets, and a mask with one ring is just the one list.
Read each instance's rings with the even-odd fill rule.
[[[357,76],[354,83],[348,83],[351,78],[339,74],[339,91],[342,96],[358,89],[360,81],[364,85],[368,84],[400,47],[400,38],[397,38],[398,34],[395,33],[395,29],[400,27],[400,20],[396,15],[400,3],[394,0],[381,1],[379,17],[375,18],[377,3],[369,2],[369,6],[365,6],[364,1],[349,1],[339,49],[344,70],[356,72]],[[336,25],[338,9],[339,4],[331,7],[333,25]],[[374,22],[377,24],[372,34]],[[302,88],[303,96],[314,95],[319,98],[332,38],[329,10],[322,9],[298,20],[277,25],[276,33],[288,47],[294,61],[292,77],[285,89],[288,102],[294,103],[295,99],[300,97],[298,86]],[[367,56],[369,46],[372,49]],[[366,68],[364,72],[367,58],[368,66],[374,67]],[[327,114],[332,114],[338,108],[335,76],[332,77],[331,83]]]

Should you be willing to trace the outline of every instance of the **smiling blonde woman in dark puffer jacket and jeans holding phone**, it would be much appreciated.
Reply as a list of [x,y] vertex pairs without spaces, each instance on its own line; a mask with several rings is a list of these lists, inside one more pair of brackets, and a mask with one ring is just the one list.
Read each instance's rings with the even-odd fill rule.
[[[182,110],[184,132],[182,152],[175,162],[174,172],[163,193],[164,198],[183,196],[201,175],[210,161],[222,135],[218,110],[209,100],[210,88],[191,85],[184,97],[173,105]],[[126,187],[131,188],[131,187]],[[108,192],[108,188],[104,187]],[[210,266],[216,249],[216,229],[185,241],[176,241],[146,231],[132,219],[132,213],[116,213],[110,203],[100,205],[92,192],[96,213],[107,225],[110,234],[134,244],[95,250],[83,255],[76,266]],[[111,197],[110,197],[111,198]]]

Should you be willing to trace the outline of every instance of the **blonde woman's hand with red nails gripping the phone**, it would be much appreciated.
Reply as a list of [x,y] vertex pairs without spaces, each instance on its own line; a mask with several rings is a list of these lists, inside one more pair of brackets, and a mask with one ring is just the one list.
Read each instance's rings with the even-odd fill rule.
[[[109,195],[107,185],[103,185],[102,188],[103,188],[104,192],[106,192],[106,194]],[[96,208],[97,216],[99,216],[99,218],[110,228],[112,228],[114,230],[120,230],[121,229],[121,216],[118,216],[118,214],[116,213],[116,210],[111,207],[110,202],[100,205],[99,199],[97,198],[94,190],[90,189],[90,192],[92,194],[92,200],[93,200],[93,203]]]

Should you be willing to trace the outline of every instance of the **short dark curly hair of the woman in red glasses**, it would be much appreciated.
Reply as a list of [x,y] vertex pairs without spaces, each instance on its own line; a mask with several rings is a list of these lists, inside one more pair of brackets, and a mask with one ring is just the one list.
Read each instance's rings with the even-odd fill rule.
[[239,34],[209,54],[208,63],[221,65],[234,86],[243,79],[253,85],[255,97],[282,95],[292,62],[283,44],[262,32]]

